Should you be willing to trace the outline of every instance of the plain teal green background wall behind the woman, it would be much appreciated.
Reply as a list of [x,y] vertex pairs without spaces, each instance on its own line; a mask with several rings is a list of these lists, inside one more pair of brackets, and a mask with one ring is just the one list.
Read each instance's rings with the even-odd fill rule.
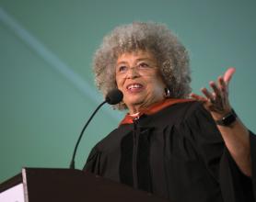
[[[91,72],[102,37],[134,20],[166,23],[188,48],[192,89],[237,68],[230,100],[256,131],[256,2],[253,0],[0,0],[0,182],[24,166],[68,167],[85,121],[103,97]],[[122,113],[103,107],[76,157]]]

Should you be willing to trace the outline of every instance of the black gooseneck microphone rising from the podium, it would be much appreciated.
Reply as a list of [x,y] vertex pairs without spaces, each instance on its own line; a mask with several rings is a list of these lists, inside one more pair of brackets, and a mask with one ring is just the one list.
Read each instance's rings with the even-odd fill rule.
[[82,129],[80,135],[79,135],[79,138],[78,140],[76,141],[76,146],[75,146],[75,150],[73,152],[73,155],[72,155],[72,160],[70,162],[70,165],[69,165],[69,168],[70,169],[75,169],[75,157],[76,157],[76,151],[77,151],[77,148],[78,148],[78,145],[80,143],[80,140],[82,139],[83,137],[83,134],[84,134],[84,131],[87,129],[87,125],[89,124],[89,122],[91,121],[91,119],[94,117],[94,115],[98,112],[99,108],[102,107],[105,103],[108,103],[110,105],[116,105],[118,103],[120,103],[122,101],[122,91],[119,90],[119,89],[113,89],[111,90],[105,97],[105,101],[102,102],[96,109],[95,111],[92,113],[92,115],[90,116],[90,118],[87,120],[87,123],[86,125],[84,126],[84,128]]

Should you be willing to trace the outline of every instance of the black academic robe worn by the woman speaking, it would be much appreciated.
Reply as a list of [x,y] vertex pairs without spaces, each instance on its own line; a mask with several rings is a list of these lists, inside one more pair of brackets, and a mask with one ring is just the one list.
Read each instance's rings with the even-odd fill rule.
[[84,170],[171,201],[254,201],[255,149],[250,132],[252,177],[247,177],[203,105],[186,102],[114,129],[92,149]]

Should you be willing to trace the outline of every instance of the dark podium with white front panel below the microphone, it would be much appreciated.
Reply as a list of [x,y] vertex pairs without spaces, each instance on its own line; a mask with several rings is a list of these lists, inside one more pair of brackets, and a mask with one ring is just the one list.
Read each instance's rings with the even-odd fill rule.
[[71,169],[23,168],[0,185],[0,202],[167,202],[111,180]]

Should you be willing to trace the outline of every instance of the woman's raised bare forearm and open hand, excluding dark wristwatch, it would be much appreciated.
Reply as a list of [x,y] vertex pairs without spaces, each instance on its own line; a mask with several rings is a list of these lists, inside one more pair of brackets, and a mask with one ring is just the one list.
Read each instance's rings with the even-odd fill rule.
[[[202,88],[205,96],[191,94],[191,96],[204,102],[204,107],[211,113],[215,120],[224,118],[231,110],[228,100],[228,84],[235,73],[234,68],[229,68],[224,76],[219,76],[217,84],[210,82],[213,93]],[[216,125],[234,161],[238,164],[243,174],[251,176],[250,160],[250,134],[239,118],[228,126]]]

